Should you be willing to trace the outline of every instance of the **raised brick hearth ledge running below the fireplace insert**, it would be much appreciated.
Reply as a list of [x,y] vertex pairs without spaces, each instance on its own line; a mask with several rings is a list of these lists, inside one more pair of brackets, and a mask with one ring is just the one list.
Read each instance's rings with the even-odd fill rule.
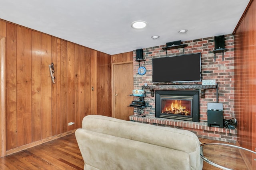
[[236,143],[237,131],[236,129],[219,128],[219,127],[208,127],[207,122],[192,122],[192,121],[181,121],[174,119],[165,119],[158,117],[138,117],[137,115],[129,116],[130,121],[136,121],[140,123],[147,123],[156,126],[173,127],[178,129],[184,129],[192,131],[197,137],[204,139],[213,139],[218,141],[225,141],[230,143]]

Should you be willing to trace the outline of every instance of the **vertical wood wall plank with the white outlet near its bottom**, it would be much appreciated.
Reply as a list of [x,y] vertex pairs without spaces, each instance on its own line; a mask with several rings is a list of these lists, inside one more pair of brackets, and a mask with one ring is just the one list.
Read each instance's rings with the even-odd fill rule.
[[[75,122],[75,45],[68,42],[68,66],[67,66],[67,78],[68,78],[68,105],[67,105],[67,121]],[[67,124],[68,126],[68,124]],[[74,129],[75,125],[68,126],[68,131]]]

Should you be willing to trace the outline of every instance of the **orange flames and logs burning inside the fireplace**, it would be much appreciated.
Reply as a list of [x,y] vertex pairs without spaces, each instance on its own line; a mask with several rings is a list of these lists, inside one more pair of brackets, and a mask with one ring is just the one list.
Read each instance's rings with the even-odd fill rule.
[[166,106],[162,113],[173,113],[173,114],[180,114],[180,115],[191,115],[191,111],[186,109],[186,106],[182,106],[181,100],[173,100],[172,104]]

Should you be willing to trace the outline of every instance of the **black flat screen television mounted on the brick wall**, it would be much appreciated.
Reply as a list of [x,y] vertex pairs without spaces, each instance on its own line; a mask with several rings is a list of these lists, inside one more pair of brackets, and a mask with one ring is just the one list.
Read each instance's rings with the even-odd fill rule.
[[152,82],[200,82],[201,53],[152,59]]

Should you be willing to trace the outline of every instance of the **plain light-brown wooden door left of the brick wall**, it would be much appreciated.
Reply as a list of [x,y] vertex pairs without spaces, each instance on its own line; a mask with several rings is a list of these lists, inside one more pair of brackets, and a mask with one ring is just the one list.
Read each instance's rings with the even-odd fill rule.
[[133,63],[113,64],[113,117],[129,120],[133,115],[133,107],[128,107],[133,97],[129,96],[133,90]]

